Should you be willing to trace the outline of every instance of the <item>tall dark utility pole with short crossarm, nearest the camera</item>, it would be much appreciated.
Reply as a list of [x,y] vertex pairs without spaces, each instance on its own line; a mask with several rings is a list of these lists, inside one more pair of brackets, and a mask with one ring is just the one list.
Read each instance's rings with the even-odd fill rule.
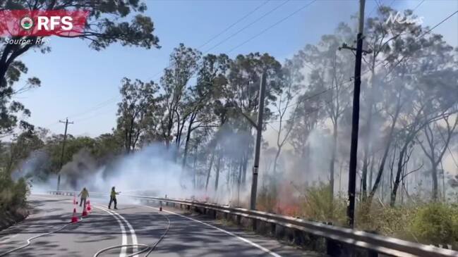
[[[355,75],[354,75],[354,92],[353,92],[353,115],[351,118],[351,148],[350,148],[350,165],[349,165],[349,188],[348,188],[348,206],[346,215],[349,227],[354,227],[355,215],[355,194],[356,194],[356,164],[358,157],[358,127],[359,127],[359,94],[361,92],[361,58],[363,55],[363,29],[364,29],[364,6],[366,0],[359,0],[359,25],[358,35],[356,36],[356,49],[343,44],[340,49],[356,50]],[[365,51],[366,53],[368,51]]]

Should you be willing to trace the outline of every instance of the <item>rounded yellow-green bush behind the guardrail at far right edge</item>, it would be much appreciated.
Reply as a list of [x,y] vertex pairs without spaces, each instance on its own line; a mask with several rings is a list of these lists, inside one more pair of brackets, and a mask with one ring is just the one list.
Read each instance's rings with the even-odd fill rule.
[[458,245],[458,208],[446,203],[429,203],[419,208],[410,225],[422,243]]

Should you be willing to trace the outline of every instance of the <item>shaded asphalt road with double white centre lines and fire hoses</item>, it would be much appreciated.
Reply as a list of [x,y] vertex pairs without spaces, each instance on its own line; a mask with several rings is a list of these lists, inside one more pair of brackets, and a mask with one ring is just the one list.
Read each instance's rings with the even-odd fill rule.
[[[123,203],[119,199],[119,209],[114,211],[107,210],[107,199],[91,199],[90,214],[68,225],[73,213],[71,197],[32,195],[29,200],[29,217],[0,232],[1,257],[27,244],[31,237],[59,229],[6,256],[94,256],[109,246],[155,244],[165,232],[149,256],[323,256],[174,208],[159,213],[155,207]],[[78,217],[81,211],[77,206]],[[122,247],[100,256],[129,256],[140,249],[141,246]]]

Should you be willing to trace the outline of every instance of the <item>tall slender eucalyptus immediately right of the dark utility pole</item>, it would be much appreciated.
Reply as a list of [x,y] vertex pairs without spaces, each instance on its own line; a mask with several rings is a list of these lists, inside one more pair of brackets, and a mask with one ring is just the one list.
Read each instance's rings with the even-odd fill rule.
[[[385,77],[383,77],[386,71],[380,68],[382,67],[380,64],[390,65],[390,63],[397,62],[396,56],[399,55],[399,44],[402,44],[406,37],[415,37],[421,32],[421,25],[416,23],[387,22],[390,15],[394,12],[397,11],[389,6],[379,6],[377,15],[366,19],[365,47],[370,53],[363,57],[363,61],[366,71],[370,72],[370,77],[368,78],[367,87],[363,89],[363,105],[367,110],[363,116],[365,123],[363,123],[361,130],[363,132],[363,164],[361,168],[363,200],[367,197],[368,168],[370,156],[373,156],[374,153],[373,143],[378,139],[374,135],[379,134],[376,131],[380,127],[373,125],[375,121],[374,116],[383,115],[380,112],[384,111],[382,108],[378,108],[378,106],[383,105],[383,99],[378,96],[384,94],[383,91],[385,90],[386,83]],[[404,14],[416,17],[411,10],[404,11]],[[396,122],[396,120],[393,121],[394,123]],[[373,166],[373,163],[371,165]],[[371,184],[372,180],[369,182],[369,187]]]

